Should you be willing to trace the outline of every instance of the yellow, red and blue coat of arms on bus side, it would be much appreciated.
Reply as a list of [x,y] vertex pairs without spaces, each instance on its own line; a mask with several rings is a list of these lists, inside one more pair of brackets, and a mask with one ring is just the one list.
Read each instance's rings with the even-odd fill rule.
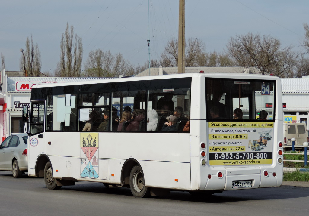
[[99,177],[99,133],[80,133],[80,176]]

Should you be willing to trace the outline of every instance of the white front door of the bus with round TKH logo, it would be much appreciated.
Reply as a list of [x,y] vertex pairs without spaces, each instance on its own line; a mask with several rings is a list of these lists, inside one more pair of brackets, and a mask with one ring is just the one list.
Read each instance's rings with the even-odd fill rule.
[[35,168],[37,158],[32,155],[40,155],[45,152],[45,100],[31,101],[29,119],[29,145],[28,145],[28,169]]

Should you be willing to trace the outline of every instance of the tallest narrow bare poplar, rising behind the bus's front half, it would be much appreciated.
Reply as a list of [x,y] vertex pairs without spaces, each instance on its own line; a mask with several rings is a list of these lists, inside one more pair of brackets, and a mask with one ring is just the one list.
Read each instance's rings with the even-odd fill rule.
[[[74,39],[74,40],[73,40]],[[82,38],[75,34],[74,28],[66,23],[66,32],[62,34],[60,42],[60,61],[55,75],[59,77],[80,77],[83,60]]]

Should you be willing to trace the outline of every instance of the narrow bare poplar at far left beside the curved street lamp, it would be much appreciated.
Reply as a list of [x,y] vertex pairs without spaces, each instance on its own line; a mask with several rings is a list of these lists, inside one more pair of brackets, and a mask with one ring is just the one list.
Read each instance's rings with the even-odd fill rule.
[[26,50],[24,52],[26,64],[24,63],[23,55],[20,57],[19,60],[19,68],[21,71],[23,71],[23,67],[25,65],[26,70],[28,71],[28,76],[30,77],[39,77],[40,76],[40,70],[42,67],[41,63],[41,53],[39,51],[38,44],[33,44],[33,39],[31,35],[31,41],[27,37],[26,39]]

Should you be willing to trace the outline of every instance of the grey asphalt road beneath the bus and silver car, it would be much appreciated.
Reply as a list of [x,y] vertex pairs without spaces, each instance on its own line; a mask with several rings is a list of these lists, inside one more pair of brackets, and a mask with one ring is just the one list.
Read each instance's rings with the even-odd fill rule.
[[309,187],[304,186],[309,183],[292,183],[202,198],[171,192],[170,196],[139,199],[127,188],[108,189],[102,183],[78,182],[48,190],[43,178],[23,175],[15,179],[11,172],[0,172],[0,215],[308,215]]

